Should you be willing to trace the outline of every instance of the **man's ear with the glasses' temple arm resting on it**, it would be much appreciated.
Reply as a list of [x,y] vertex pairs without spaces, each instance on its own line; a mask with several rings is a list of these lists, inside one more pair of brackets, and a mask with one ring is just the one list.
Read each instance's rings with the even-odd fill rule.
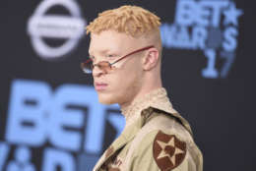
[[152,70],[159,63],[160,52],[157,48],[151,48],[147,51],[143,58],[143,69]]

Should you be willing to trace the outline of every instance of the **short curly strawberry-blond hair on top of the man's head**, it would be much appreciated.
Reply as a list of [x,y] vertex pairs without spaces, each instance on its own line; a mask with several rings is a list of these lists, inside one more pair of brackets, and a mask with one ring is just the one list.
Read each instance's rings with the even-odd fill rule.
[[138,6],[125,5],[99,13],[86,28],[87,33],[100,33],[113,29],[136,36],[160,28],[160,18],[152,12]]

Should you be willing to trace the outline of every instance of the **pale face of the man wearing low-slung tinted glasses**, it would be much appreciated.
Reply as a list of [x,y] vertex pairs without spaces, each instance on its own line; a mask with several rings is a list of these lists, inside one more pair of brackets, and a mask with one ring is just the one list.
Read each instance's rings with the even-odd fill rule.
[[[125,33],[105,30],[92,33],[89,53],[94,64],[100,61],[112,63],[120,57],[142,48],[143,43]],[[143,52],[133,54],[114,64],[107,73],[95,67],[93,71],[99,102],[103,104],[129,104],[140,92],[142,86]]]

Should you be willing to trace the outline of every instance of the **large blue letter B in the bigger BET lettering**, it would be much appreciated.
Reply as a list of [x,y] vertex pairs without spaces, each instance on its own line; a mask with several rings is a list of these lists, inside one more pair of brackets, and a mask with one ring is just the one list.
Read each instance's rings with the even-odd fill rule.
[[44,83],[19,80],[13,83],[6,132],[8,142],[43,144],[49,96],[50,88]]

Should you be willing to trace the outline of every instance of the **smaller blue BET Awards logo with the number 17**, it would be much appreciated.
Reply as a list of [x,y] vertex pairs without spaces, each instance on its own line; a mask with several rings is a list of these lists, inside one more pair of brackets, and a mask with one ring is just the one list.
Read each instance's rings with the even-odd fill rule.
[[[203,50],[208,59],[202,76],[225,78],[235,58],[238,19],[243,14],[232,0],[178,0],[173,24],[160,28],[166,48]],[[223,59],[221,69],[217,60]]]

